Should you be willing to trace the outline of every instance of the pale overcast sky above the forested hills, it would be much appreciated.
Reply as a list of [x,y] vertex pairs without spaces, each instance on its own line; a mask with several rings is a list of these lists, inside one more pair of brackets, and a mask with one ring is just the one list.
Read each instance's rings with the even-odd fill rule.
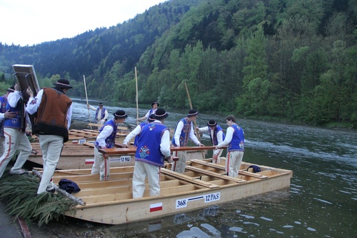
[[34,45],[133,19],[165,0],[0,0],[0,42]]

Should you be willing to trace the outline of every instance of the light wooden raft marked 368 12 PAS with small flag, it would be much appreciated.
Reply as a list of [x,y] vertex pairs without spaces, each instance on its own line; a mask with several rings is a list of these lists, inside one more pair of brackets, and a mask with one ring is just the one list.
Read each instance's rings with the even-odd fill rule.
[[[57,184],[60,179],[67,178],[81,188],[75,196],[80,197],[85,205],[78,205],[76,213],[69,210],[65,215],[113,225],[185,213],[288,188],[292,177],[292,171],[260,166],[260,174],[268,176],[267,179],[251,177],[254,173],[233,178],[222,174],[220,164],[216,164],[217,169],[212,168],[210,162],[200,162],[193,160],[187,164],[185,173],[161,169],[161,191],[157,197],[150,197],[146,182],[143,197],[133,199],[134,166],[111,168],[108,181],[100,181],[100,176],[91,174],[91,169],[56,171],[53,179]],[[240,169],[247,169],[250,165],[242,162]]]

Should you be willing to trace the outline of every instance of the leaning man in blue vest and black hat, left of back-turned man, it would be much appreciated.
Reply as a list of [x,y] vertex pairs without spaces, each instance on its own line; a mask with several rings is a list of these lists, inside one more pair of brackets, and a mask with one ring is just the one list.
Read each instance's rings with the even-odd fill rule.
[[117,137],[118,124],[123,123],[128,117],[125,111],[117,110],[113,113],[114,118],[105,122],[94,143],[94,164],[91,174],[100,174],[100,180],[109,180],[111,158],[99,152],[98,149],[113,148]]

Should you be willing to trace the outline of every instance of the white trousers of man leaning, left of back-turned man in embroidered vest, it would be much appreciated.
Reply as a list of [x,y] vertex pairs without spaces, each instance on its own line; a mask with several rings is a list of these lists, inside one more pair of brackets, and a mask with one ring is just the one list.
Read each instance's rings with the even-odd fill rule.
[[105,156],[94,147],[94,164],[91,174],[100,174],[100,180],[109,180],[111,175],[111,158]]

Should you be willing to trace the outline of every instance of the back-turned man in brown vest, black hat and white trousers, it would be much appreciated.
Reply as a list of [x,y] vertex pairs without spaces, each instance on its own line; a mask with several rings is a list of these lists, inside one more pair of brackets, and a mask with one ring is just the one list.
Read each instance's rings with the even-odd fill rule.
[[69,139],[72,100],[66,94],[73,87],[65,78],[60,78],[54,86],[41,89],[35,97],[32,89],[27,89],[30,94],[27,111],[33,115],[36,113],[32,131],[38,135],[43,153],[43,175],[37,194],[54,192],[52,175],[60,160],[63,143]]

